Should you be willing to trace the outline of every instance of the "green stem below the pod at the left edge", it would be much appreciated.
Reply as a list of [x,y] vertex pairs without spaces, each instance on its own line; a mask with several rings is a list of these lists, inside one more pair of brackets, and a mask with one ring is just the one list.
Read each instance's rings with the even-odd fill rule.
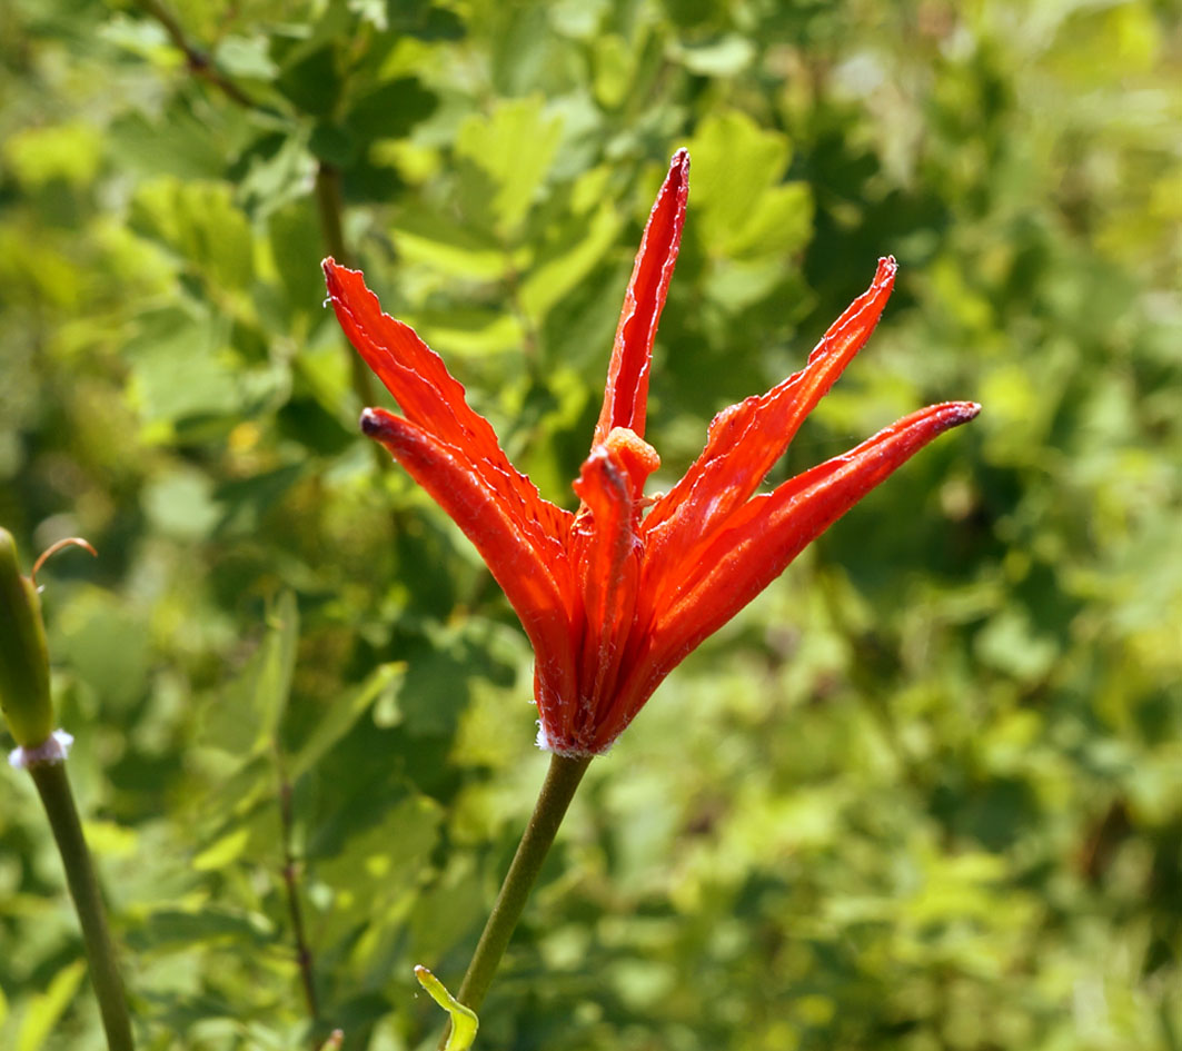
[[98,890],[95,865],[86,849],[86,838],[78,819],[65,763],[41,763],[30,768],[33,784],[45,804],[50,828],[61,854],[66,870],[66,883],[73,898],[82,938],[90,961],[90,977],[98,997],[98,1010],[103,1014],[106,1046],[110,1051],[132,1051],[131,1019],[123,993],[123,981],[115,960],[115,946],[106,929],[106,911]]

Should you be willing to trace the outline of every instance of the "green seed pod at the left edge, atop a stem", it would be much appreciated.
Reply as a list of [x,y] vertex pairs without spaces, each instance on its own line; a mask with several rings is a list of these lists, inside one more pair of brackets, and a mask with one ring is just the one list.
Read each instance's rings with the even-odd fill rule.
[[17,564],[12,533],[0,528],[0,707],[22,748],[43,745],[53,732],[50,654],[41,601]]

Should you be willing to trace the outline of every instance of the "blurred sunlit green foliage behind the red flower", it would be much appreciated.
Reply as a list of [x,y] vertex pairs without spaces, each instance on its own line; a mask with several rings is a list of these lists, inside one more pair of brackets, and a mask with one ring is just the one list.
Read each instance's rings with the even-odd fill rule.
[[[483,1046],[1182,1047],[1177,2],[11,0],[0,61],[0,521],[99,551],[41,583],[143,1046],[430,1046],[545,768],[320,258],[569,505],[688,145],[665,479],[888,252],[773,480],[986,408],[592,765]],[[79,959],[9,773],[0,1044],[102,1045]]]

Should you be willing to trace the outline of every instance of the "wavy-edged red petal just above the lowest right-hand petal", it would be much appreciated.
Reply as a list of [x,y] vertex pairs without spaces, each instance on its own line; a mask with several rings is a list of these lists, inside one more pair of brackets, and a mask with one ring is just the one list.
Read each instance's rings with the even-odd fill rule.
[[894,257],[878,260],[870,287],[830,326],[804,369],[714,417],[702,454],[644,521],[655,544],[680,547],[687,534],[699,537],[720,525],[755,492],[805,417],[870,338],[890,298],[896,268]]

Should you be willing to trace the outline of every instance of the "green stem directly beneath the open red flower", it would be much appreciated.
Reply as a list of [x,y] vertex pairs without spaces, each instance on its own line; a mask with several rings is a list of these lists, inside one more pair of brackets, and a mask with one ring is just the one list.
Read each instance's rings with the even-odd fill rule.
[[[518,845],[513,863],[501,884],[501,891],[496,895],[496,902],[485,930],[480,935],[476,952],[473,954],[468,971],[460,984],[460,992],[456,999],[473,1011],[478,1011],[485,1001],[485,994],[493,982],[493,975],[500,966],[501,956],[513,936],[513,928],[525,909],[525,903],[530,897],[530,891],[538,880],[543,862],[550,851],[558,826],[563,823],[566,809],[571,805],[574,790],[578,789],[591,755],[558,755],[550,759],[550,770],[546,772],[546,780],[538,793],[538,802],[534,804],[530,824],[525,828],[521,843]],[[440,1049],[447,1045],[448,1033],[452,1024],[440,1040]]]

